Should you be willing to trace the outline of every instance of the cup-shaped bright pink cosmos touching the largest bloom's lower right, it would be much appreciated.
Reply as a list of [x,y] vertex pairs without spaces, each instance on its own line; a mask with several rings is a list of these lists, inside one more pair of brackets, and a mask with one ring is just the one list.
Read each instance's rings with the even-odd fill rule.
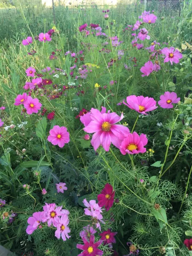
[[145,145],[147,145],[148,139],[145,134],[141,134],[140,136],[137,134],[137,132],[129,133],[126,138],[121,143],[120,151],[123,155],[127,154],[139,154],[139,153],[145,153],[146,148],[144,148]]

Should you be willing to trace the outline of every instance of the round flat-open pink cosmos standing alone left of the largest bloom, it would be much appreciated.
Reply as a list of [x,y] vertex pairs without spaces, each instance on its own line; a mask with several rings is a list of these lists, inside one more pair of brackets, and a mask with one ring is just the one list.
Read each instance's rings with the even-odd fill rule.
[[54,146],[58,145],[60,148],[63,148],[65,143],[69,142],[69,133],[65,126],[55,125],[53,129],[49,131],[49,136],[47,140],[51,142]]

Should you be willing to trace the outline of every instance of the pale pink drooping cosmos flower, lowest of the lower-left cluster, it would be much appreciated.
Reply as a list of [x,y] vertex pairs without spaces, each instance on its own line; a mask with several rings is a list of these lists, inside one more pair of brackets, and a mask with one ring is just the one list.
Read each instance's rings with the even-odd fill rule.
[[71,232],[71,230],[68,228],[69,219],[67,215],[62,215],[59,219],[59,223],[57,224],[57,230],[55,231],[55,236],[60,239],[60,236],[62,237],[63,241],[66,241],[66,237],[69,239],[71,236],[68,235],[68,233]]

